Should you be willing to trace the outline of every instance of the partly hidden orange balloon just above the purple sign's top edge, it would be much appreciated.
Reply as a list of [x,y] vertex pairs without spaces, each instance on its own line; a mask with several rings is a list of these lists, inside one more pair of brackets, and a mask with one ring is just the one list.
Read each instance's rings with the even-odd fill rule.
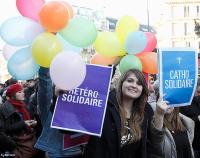
[[102,56],[98,53],[95,53],[92,56],[90,63],[108,66],[108,65],[112,65],[117,59],[118,59],[118,57],[105,57],[105,56]]

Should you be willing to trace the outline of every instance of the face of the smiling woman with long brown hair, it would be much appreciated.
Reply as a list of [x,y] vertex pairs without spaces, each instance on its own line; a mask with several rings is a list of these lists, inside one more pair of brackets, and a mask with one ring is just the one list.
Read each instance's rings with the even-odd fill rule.
[[122,84],[122,95],[132,99],[137,99],[142,93],[143,87],[135,74],[130,74]]

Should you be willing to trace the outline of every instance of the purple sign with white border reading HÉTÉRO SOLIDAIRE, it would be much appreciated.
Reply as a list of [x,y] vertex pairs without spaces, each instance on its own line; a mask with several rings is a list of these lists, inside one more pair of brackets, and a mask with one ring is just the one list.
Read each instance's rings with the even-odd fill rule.
[[112,67],[87,65],[83,83],[57,99],[51,127],[101,136]]

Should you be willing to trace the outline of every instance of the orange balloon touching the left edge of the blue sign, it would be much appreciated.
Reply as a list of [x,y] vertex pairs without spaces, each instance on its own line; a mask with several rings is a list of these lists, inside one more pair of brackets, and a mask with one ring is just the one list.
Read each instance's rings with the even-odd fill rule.
[[142,71],[149,74],[158,73],[157,53],[145,52],[136,55],[142,62]]

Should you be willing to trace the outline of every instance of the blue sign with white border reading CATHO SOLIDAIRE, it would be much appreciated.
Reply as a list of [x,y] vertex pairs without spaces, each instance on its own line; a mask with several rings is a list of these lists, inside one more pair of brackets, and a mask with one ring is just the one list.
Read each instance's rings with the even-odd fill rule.
[[194,49],[159,50],[160,94],[170,106],[190,105],[198,79],[198,57]]

